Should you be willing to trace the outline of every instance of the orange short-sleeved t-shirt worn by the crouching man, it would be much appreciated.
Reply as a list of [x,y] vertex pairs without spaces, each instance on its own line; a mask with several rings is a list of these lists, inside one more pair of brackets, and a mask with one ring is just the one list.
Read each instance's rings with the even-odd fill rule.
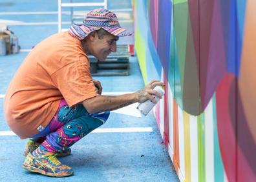
[[48,125],[60,99],[73,106],[95,96],[81,41],[69,32],[54,34],[33,48],[12,79],[4,101],[6,121],[25,139]]

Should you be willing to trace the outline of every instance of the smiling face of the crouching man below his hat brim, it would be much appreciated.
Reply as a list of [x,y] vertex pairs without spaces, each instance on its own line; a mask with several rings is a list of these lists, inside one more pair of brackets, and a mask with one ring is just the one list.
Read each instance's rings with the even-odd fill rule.
[[100,61],[103,61],[111,54],[111,52],[116,52],[116,41],[119,37],[107,33],[99,39],[96,32],[93,41],[91,43],[90,53],[95,56]]

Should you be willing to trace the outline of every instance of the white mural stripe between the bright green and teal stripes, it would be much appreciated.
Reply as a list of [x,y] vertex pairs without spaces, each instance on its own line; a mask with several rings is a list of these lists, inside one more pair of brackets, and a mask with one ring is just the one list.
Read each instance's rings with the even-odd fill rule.
[[213,101],[209,101],[205,116],[205,134],[206,134],[206,181],[214,180],[214,139],[213,139]]

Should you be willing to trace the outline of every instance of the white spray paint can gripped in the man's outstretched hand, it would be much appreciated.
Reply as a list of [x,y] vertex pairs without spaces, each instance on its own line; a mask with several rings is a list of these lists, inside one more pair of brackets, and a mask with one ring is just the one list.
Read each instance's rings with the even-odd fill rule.
[[[159,92],[162,96],[164,96],[164,89],[161,86],[156,86],[153,90],[156,90],[157,92]],[[159,97],[153,95],[156,99],[156,101],[158,102],[160,100]],[[137,107],[138,110],[140,110],[140,112],[142,114],[144,114],[145,116],[147,114],[149,114],[149,112],[151,111],[151,109],[155,106],[155,103],[153,103],[151,100],[147,100],[144,103],[140,103]]]

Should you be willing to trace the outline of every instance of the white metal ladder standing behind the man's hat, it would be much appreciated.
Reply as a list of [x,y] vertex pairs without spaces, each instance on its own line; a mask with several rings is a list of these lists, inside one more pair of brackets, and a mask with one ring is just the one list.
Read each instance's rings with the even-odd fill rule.
[[103,0],[101,3],[73,3],[70,0],[70,3],[62,3],[62,0],[58,0],[58,32],[62,32],[62,8],[63,7],[70,7],[71,11],[71,19],[73,17],[73,7],[85,7],[85,6],[103,6],[107,9],[107,0]]

